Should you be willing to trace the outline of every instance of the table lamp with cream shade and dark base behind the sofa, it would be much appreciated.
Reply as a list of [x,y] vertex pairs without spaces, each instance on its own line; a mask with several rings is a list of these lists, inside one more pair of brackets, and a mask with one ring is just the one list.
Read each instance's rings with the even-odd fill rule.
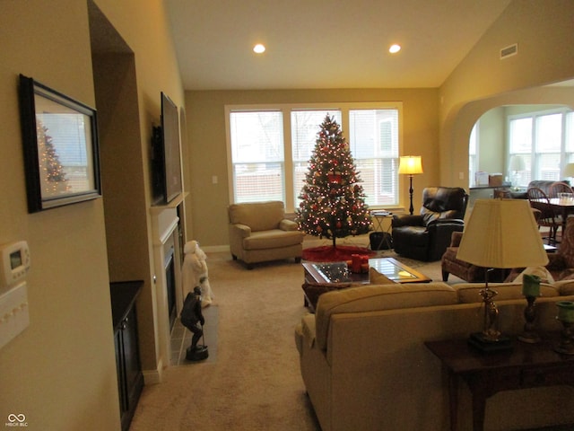
[[526,199],[478,199],[465,225],[457,259],[486,268],[483,331],[469,342],[484,352],[510,348],[509,337],[498,329],[498,309],[488,286],[492,268],[539,267],[548,263],[542,237]]

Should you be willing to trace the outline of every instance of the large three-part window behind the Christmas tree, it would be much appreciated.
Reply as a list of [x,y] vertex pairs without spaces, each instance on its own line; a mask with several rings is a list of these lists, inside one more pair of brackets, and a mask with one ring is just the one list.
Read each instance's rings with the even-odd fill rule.
[[300,189],[326,115],[341,125],[370,207],[399,205],[401,103],[335,106],[226,106],[230,199],[277,199],[288,211]]

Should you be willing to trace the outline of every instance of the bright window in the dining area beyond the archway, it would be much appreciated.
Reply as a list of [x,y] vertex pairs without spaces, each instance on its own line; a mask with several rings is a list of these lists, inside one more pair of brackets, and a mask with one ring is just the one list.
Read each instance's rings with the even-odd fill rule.
[[515,184],[563,180],[561,170],[574,160],[573,115],[561,110],[509,117],[509,160],[519,166],[510,167]]

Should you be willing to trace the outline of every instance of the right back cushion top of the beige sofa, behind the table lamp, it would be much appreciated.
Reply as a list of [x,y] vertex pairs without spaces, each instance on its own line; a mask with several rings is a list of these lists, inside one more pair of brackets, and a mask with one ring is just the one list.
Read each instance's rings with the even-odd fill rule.
[[[498,292],[498,295],[494,296],[494,302],[524,298],[524,295],[522,295],[522,283],[489,283],[488,286],[490,289]],[[452,287],[457,292],[460,303],[483,302],[483,297],[480,295],[480,291],[484,288],[483,283],[460,283]],[[541,283],[540,294],[545,297],[559,296],[560,290],[552,285]]]

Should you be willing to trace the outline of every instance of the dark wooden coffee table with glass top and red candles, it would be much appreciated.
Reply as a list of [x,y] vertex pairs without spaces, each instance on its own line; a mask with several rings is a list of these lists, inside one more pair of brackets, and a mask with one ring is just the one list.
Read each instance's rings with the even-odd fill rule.
[[[329,290],[370,284],[368,272],[352,273],[348,270],[346,262],[303,262],[302,265],[305,270],[304,303],[311,312],[315,311],[319,295]],[[431,278],[393,258],[369,259],[369,266],[397,283],[429,283],[432,281]],[[312,286],[317,283],[322,286]]]

